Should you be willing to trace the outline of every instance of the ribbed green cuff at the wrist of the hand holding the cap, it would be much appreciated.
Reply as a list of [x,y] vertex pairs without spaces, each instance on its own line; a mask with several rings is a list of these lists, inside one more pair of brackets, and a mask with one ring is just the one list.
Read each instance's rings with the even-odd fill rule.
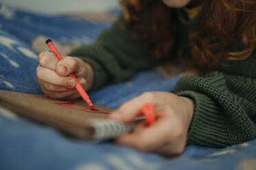
[[188,144],[225,147],[232,145],[232,138],[226,126],[222,108],[217,102],[191,90],[181,91],[176,95],[194,99],[195,109],[188,132]]

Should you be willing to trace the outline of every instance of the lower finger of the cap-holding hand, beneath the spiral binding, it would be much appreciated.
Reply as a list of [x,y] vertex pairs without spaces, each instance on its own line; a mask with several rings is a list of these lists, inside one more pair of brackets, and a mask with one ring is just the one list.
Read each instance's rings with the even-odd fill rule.
[[[154,151],[167,144],[166,134],[169,134],[169,126],[165,119],[156,121],[150,127],[136,130],[131,134],[125,134],[117,138],[117,143],[135,147],[142,151]],[[138,142],[139,141],[139,142]]]

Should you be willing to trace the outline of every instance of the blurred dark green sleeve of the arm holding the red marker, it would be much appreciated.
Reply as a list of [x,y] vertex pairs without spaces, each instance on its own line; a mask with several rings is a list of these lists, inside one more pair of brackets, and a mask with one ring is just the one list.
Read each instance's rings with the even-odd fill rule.
[[126,80],[140,69],[149,68],[149,51],[146,42],[128,32],[124,17],[120,16],[93,44],[75,49],[69,55],[80,57],[91,64],[95,73],[95,90],[106,84]]

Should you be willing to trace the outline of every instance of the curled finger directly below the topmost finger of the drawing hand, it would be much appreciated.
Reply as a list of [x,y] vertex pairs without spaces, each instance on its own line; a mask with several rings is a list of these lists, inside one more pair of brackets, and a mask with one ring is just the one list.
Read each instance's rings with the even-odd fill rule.
[[67,88],[74,88],[75,87],[75,80],[73,77],[61,77],[60,75],[56,74],[55,71],[51,69],[46,69],[43,66],[38,66],[36,69],[38,80],[43,82],[48,82],[50,84],[54,84],[57,86],[65,86]]

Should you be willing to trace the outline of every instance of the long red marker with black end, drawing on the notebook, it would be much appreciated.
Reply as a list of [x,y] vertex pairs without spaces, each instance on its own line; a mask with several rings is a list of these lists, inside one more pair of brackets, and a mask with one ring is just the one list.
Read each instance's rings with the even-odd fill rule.
[[[62,60],[62,56],[60,55],[60,53],[58,52],[58,50],[56,49],[56,47],[54,46],[54,42],[52,42],[50,39],[46,40],[45,43],[47,44],[47,46],[49,47],[49,49],[54,52],[58,58],[58,60]],[[82,88],[81,84],[78,82],[78,80],[76,79],[75,75],[73,73],[71,73],[71,76],[73,77],[73,79],[75,80],[76,84],[75,84],[75,88],[76,90],[78,90],[78,93],[80,94],[80,96],[82,97],[82,99],[84,99],[84,101],[86,101],[87,104],[89,104],[89,106],[95,110],[93,103],[91,102],[89,95],[87,95],[86,91],[84,90],[84,88]]]

